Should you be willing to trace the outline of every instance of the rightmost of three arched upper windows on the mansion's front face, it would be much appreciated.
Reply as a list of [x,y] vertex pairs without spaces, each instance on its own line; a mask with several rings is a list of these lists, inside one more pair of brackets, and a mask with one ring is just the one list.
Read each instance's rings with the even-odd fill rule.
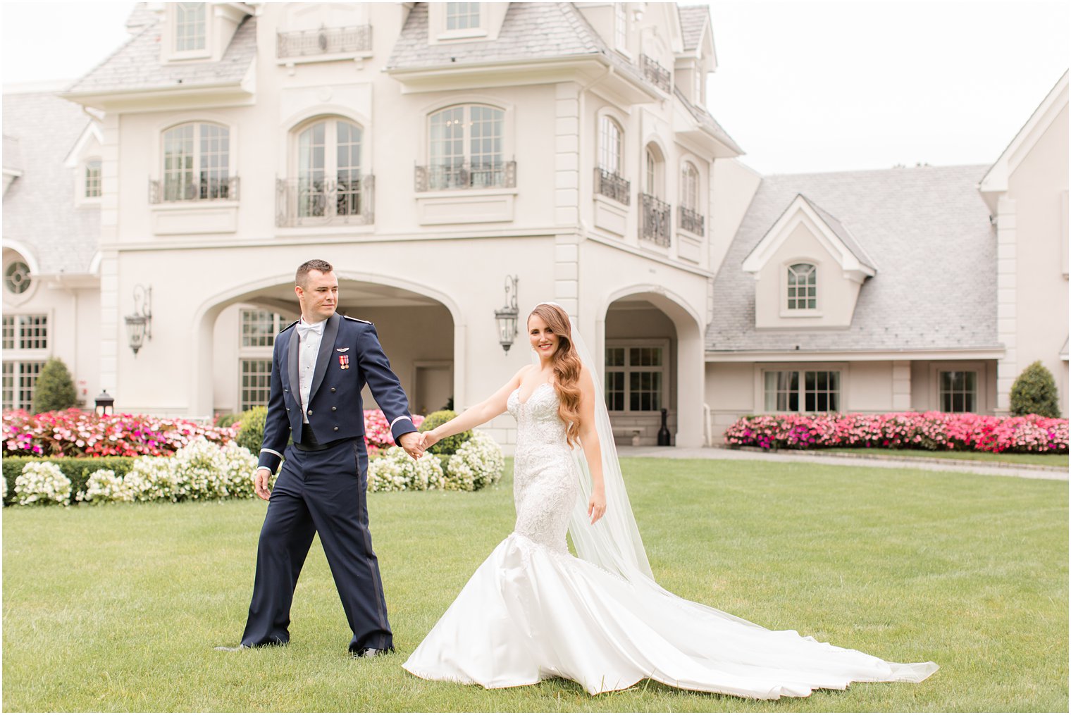
[[511,185],[502,158],[504,119],[502,109],[479,104],[448,107],[428,117],[427,188]]

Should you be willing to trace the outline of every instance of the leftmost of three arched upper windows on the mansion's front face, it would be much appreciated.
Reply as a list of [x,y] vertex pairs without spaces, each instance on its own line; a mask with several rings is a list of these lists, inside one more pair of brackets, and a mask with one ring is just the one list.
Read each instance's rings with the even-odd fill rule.
[[164,201],[232,196],[230,130],[192,122],[164,132]]

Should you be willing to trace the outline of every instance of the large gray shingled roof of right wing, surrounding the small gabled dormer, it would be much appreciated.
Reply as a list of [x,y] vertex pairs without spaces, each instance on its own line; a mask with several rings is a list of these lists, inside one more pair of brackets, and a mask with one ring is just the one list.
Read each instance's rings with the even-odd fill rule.
[[[996,237],[978,193],[984,166],[763,179],[714,278],[708,352],[997,349]],[[755,330],[755,280],[741,263],[797,194],[835,214],[881,267],[851,326]],[[820,288],[819,288],[820,290]]]

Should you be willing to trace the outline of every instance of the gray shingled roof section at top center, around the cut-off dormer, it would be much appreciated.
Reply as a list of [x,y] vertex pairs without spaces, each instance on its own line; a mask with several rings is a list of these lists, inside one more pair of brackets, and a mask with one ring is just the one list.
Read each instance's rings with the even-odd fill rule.
[[606,44],[571,2],[511,2],[498,37],[432,45],[427,42],[427,3],[409,11],[394,43],[387,70],[464,66],[511,60],[541,60],[601,55],[637,81],[650,85],[638,67]]

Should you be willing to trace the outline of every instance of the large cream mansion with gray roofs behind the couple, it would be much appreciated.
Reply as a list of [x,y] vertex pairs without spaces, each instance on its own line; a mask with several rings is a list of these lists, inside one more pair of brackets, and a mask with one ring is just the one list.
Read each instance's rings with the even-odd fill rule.
[[4,91],[4,409],[51,355],[90,408],[265,404],[323,258],[417,412],[530,360],[515,299],[605,355],[625,442],[663,408],[685,446],[756,412],[1001,413],[1036,360],[1067,414],[1067,75],[991,166],[760,177],[706,109],[705,5],[139,3],[127,29],[73,85]]

